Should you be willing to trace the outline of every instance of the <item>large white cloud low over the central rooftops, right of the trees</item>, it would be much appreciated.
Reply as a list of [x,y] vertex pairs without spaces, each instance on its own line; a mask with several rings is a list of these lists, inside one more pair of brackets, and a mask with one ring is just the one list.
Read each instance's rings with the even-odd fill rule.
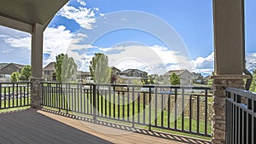
[[110,48],[101,48],[108,55],[110,66],[116,66],[120,70],[137,68],[149,73],[163,74],[169,68],[178,68],[177,55],[166,47],[158,45],[125,45]]

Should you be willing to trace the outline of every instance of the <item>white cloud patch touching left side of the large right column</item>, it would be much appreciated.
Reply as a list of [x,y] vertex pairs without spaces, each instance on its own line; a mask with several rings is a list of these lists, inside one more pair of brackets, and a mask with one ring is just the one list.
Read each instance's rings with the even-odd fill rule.
[[198,57],[192,60],[192,72],[200,72],[201,74],[210,75],[213,69],[214,53],[208,55],[207,57]]

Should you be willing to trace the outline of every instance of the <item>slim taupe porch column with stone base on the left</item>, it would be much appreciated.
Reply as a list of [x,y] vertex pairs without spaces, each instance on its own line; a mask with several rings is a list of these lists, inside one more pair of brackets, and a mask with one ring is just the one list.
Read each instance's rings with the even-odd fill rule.
[[35,24],[32,31],[32,107],[41,107],[41,82],[43,81],[43,33],[44,26]]

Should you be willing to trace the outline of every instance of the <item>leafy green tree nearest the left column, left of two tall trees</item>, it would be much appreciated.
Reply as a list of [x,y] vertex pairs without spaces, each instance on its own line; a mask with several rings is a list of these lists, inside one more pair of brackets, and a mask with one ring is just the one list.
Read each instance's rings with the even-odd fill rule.
[[72,57],[60,54],[56,56],[55,73],[58,82],[67,82],[77,72],[78,65]]

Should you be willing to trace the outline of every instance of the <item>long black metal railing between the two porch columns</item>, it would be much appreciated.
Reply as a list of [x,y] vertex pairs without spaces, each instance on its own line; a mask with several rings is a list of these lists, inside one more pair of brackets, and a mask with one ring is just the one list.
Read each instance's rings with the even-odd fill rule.
[[207,87],[44,83],[42,89],[44,107],[94,121],[211,136],[212,95]]

